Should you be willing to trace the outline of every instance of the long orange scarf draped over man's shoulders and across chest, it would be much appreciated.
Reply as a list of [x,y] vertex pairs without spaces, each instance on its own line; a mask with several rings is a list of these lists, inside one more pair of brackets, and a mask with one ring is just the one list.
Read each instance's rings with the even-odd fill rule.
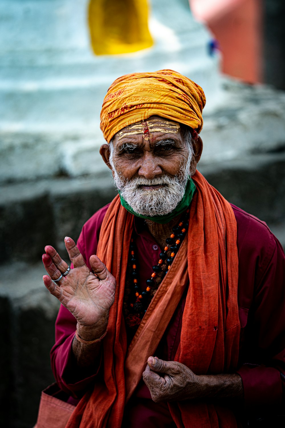
[[[103,375],[81,399],[67,428],[120,428],[126,401],[141,380],[183,291],[190,282],[176,361],[197,375],[230,373],[238,361],[238,251],[236,221],[229,203],[199,172],[191,202],[188,239],[183,241],[138,330],[126,347],[122,307],[133,216],[111,202],[100,232],[97,255],[117,279],[103,341]],[[180,401],[169,404],[180,428],[236,427],[226,408]]]

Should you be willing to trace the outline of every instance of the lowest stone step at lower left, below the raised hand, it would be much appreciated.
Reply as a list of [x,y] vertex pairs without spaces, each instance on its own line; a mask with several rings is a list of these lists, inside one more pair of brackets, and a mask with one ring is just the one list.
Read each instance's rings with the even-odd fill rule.
[[0,419],[7,428],[34,426],[41,390],[54,382],[49,354],[59,302],[43,274],[42,263],[0,267]]

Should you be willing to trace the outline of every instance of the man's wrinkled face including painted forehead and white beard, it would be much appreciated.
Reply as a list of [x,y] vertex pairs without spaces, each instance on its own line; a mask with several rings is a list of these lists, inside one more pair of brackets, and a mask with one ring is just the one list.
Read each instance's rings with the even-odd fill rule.
[[123,128],[111,144],[115,184],[132,209],[148,216],[173,211],[184,195],[191,162],[179,123],[152,116]]

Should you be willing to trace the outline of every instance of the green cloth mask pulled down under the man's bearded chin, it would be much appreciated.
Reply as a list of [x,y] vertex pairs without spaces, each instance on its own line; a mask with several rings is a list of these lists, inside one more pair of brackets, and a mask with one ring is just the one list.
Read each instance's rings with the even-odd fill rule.
[[126,208],[127,211],[129,211],[129,213],[134,214],[136,217],[144,218],[145,220],[151,220],[151,221],[154,221],[155,223],[165,224],[170,222],[170,220],[172,220],[174,217],[178,216],[188,208],[188,206],[191,203],[192,196],[195,189],[196,189],[196,186],[194,184],[194,181],[192,180],[192,178],[189,177],[186,183],[183,198],[181,199],[177,207],[173,211],[171,211],[171,213],[169,214],[157,215],[157,216],[147,216],[147,215],[137,214],[129,206],[129,204],[125,201],[125,199],[123,199],[123,197],[120,194],[120,190],[119,190],[119,195],[120,195],[121,204],[123,205],[124,208]]

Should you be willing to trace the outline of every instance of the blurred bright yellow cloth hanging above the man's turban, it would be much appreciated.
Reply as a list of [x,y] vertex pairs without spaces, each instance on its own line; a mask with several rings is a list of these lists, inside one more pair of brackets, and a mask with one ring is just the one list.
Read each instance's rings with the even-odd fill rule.
[[90,0],[89,29],[96,55],[129,53],[153,45],[147,0]]

